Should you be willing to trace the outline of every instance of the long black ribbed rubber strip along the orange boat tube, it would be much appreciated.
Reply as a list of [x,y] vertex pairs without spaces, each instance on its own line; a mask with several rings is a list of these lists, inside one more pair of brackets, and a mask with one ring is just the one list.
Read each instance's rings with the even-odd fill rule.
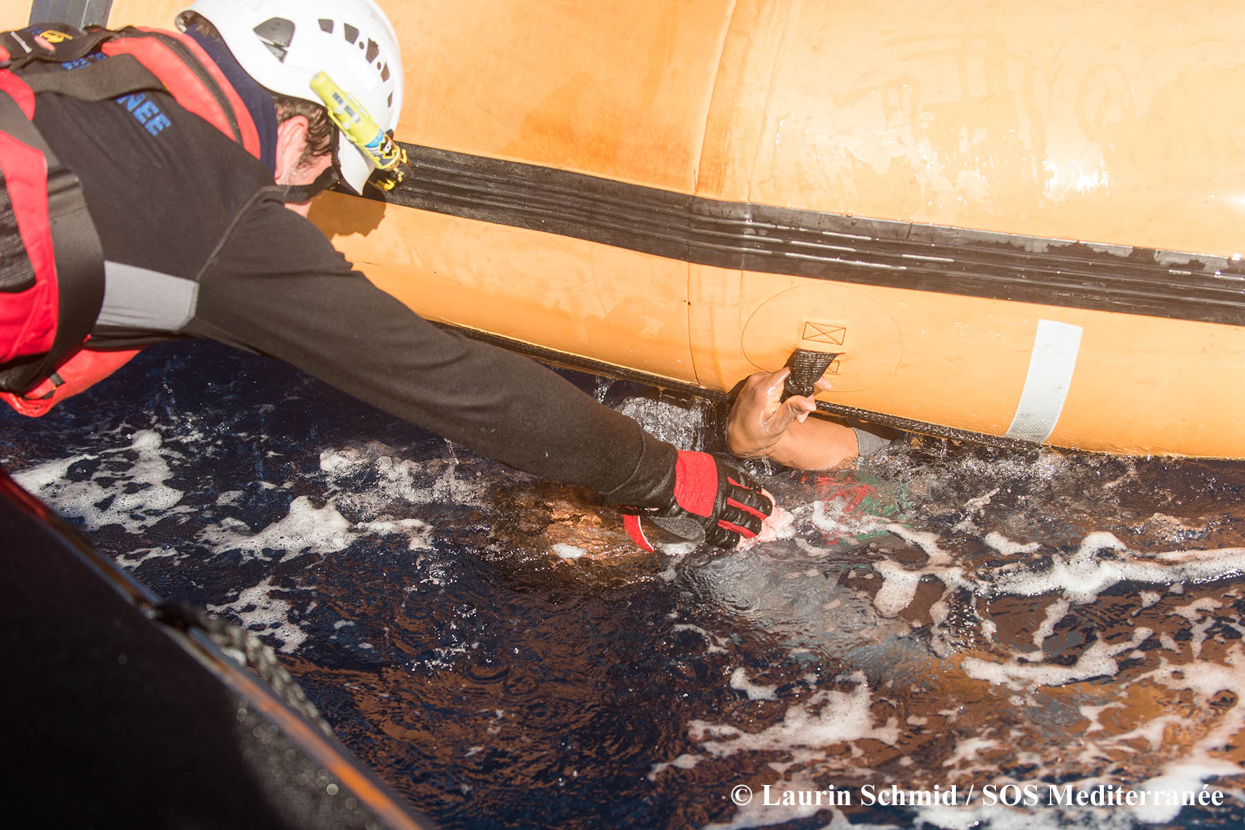
[[369,198],[732,270],[1245,326],[1236,259],[720,202],[403,147],[413,175]]

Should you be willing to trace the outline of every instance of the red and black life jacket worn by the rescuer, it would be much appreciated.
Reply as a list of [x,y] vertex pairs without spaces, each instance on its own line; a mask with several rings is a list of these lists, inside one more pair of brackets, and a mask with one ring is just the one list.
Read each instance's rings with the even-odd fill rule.
[[87,342],[103,302],[103,253],[77,177],[31,122],[35,93],[106,101],[151,90],[259,158],[242,98],[186,35],[61,25],[0,32],[0,399],[22,414],[46,413],[138,353]]

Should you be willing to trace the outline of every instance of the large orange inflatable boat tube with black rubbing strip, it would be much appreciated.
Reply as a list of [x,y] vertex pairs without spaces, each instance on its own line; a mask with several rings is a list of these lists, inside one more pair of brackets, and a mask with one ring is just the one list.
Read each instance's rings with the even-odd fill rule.
[[421,315],[708,393],[830,352],[830,413],[1245,458],[1245,9],[380,1],[415,175],[312,218]]

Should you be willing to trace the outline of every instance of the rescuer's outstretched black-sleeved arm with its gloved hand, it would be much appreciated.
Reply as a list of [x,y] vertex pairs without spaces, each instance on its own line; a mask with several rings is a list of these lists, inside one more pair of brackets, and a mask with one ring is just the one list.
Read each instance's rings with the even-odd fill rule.
[[[759,530],[768,509],[737,515],[742,497],[727,495],[736,485],[716,459],[679,453],[527,357],[433,326],[279,203],[259,204],[247,219],[202,275],[186,333],[284,360],[528,473],[646,515],[692,516],[712,544]],[[756,490],[764,508],[768,498]]]

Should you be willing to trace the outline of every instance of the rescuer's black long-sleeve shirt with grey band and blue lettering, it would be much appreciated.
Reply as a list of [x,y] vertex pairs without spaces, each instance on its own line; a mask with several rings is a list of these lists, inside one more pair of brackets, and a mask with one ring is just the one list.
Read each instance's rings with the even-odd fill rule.
[[273,174],[166,93],[37,97],[107,260],[96,347],[207,337],[298,366],[518,469],[659,506],[675,449],[518,355],[423,320],[286,209]]

